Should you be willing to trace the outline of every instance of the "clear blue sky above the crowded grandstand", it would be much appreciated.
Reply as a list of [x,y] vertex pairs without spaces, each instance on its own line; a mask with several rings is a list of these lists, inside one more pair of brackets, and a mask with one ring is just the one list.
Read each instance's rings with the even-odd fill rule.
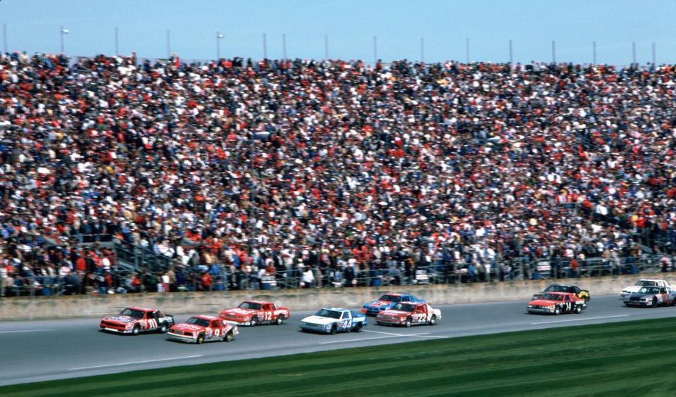
[[515,62],[589,63],[596,41],[597,61],[627,65],[636,42],[637,61],[676,63],[676,2],[644,1],[399,1],[399,0],[0,0],[0,23],[7,25],[10,51],[58,52],[59,26],[69,30],[71,56],[112,54],[118,27],[120,53],[164,57],[165,32],[182,58],[215,58],[215,32],[222,32],[221,55],[282,58],[282,34],[290,58],[373,61],[373,37],[384,61],[465,61],[470,39],[472,61],[508,61],[513,40]]

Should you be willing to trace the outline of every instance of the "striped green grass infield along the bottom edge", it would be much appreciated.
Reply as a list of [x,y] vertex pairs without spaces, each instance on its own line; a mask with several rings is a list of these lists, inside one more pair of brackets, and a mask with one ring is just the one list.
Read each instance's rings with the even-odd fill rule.
[[676,396],[676,317],[123,372],[0,394]]

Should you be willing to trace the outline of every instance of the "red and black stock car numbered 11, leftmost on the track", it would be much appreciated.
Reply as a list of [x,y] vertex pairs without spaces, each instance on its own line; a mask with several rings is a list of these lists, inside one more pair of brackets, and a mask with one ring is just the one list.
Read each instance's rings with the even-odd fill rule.
[[174,324],[174,317],[149,308],[125,308],[118,315],[101,319],[101,331],[137,335],[141,332],[167,332]]

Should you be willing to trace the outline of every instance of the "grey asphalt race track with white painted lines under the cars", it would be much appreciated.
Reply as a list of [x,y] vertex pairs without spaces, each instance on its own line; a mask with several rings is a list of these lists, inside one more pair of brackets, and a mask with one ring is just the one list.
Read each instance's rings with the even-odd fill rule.
[[[99,319],[0,322],[0,385],[39,382],[175,365],[215,363],[338,348],[398,344],[434,338],[672,317],[675,307],[627,308],[619,296],[593,296],[581,315],[528,315],[524,301],[440,305],[434,327],[394,328],[373,317],[360,333],[300,332],[308,311],[292,312],[281,326],[240,327],[230,343],[181,344],[163,334],[125,336],[99,332]],[[160,308],[161,309],[161,308]],[[209,314],[209,313],[195,313]],[[178,315],[177,322],[188,315]],[[218,364],[224,365],[224,364]],[[225,364],[227,365],[227,364]]]

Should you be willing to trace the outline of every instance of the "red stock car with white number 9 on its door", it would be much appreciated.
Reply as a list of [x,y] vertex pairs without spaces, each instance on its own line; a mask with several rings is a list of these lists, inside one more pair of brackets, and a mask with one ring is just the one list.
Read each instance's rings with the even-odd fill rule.
[[229,342],[238,334],[237,325],[213,315],[194,315],[186,322],[171,327],[167,332],[167,339],[189,344],[203,344],[211,341]]

